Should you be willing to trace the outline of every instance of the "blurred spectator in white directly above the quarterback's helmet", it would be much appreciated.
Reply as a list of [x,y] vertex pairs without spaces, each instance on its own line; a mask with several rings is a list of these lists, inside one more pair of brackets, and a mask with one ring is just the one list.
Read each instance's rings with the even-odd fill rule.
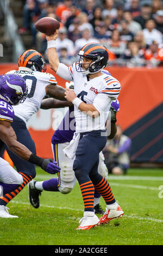
[[74,45],[76,53],[83,47],[83,45],[89,44],[89,42],[99,42],[96,38],[91,37],[89,29],[85,28],[82,33],[82,38],[75,41]]

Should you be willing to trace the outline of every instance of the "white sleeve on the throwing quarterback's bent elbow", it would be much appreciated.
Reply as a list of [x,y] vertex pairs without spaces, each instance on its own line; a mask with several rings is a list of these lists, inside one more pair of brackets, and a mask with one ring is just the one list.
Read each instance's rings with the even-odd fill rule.
[[93,101],[93,106],[97,109],[98,112],[101,112],[104,111],[110,102],[111,98],[108,97],[108,95],[98,94]]

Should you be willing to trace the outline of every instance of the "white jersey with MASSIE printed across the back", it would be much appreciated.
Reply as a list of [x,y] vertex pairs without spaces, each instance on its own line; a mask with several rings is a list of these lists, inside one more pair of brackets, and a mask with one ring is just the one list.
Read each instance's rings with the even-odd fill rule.
[[11,70],[7,74],[17,74],[26,80],[28,86],[27,99],[23,103],[12,107],[14,108],[15,115],[27,123],[29,118],[39,111],[41,101],[46,95],[45,88],[51,83],[57,84],[57,81],[49,73],[33,71],[23,67],[20,67],[18,70]]

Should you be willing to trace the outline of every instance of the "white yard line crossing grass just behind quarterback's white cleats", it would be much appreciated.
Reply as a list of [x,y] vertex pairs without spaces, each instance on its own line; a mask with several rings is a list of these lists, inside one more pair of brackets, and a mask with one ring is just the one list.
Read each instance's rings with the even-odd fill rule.
[[[30,203],[25,203],[25,202],[20,202],[20,201],[15,201],[12,200],[10,203],[14,203],[14,204],[24,204],[24,205],[30,205]],[[73,209],[73,208],[67,208],[67,207],[58,207],[58,206],[51,206],[51,205],[43,205],[40,204],[40,206],[45,207],[45,208],[52,208],[52,209],[60,209],[60,210],[72,210],[72,211],[81,211],[83,212],[82,209]],[[134,216],[134,215],[124,215],[124,218],[136,218],[137,220],[142,220],[142,221],[153,221],[153,222],[163,222],[163,220],[158,220],[155,218],[149,218],[149,217],[140,217],[140,216]]]

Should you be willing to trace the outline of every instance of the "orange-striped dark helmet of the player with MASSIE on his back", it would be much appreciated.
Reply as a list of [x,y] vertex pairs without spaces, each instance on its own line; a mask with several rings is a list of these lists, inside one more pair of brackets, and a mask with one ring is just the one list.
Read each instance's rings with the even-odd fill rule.
[[46,62],[41,53],[35,50],[24,51],[18,58],[18,66],[23,66],[33,71],[46,72]]

